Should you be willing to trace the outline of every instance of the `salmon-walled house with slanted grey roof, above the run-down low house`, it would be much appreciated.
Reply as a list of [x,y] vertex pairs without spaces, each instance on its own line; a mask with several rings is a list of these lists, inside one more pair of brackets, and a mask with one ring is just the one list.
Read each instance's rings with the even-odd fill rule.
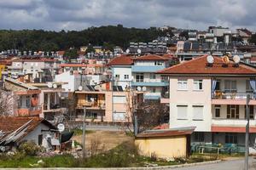
[[39,116],[42,113],[39,88],[12,78],[5,78],[4,89],[12,92],[15,116]]

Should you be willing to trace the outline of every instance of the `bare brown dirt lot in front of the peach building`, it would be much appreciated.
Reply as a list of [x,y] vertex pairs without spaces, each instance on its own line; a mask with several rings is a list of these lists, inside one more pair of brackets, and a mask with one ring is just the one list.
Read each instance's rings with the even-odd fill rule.
[[[133,141],[132,137],[127,136],[123,132],[95,131],[93,133],[85,134],[85,147],[89,148],[91,141],[96,139],[100,140],[101,143],[104,144],[104,148],[106,150],[111,150],[123,142]],[[82,144],[82,135],[73,136],[73,140]]]

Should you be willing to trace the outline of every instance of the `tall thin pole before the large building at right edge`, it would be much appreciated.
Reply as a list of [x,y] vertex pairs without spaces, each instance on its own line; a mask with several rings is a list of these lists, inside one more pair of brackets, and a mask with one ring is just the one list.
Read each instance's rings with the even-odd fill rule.
[[247,94],[247,106],[246,106],[246,119],[247,119],[247,126],[246,126],[246,139],[245,139],[245,162],[244,162],[244,169],[248,170],[249,167],[249,123],[250,123],[250,113],[249,113],[249,101],[250,101],[250,94]]

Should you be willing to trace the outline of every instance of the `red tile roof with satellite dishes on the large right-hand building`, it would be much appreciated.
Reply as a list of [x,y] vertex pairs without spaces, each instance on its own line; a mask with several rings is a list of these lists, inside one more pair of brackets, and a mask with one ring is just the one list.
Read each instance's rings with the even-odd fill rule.
[[214,63],[212,66],[207,65],[207,55],[185,61],[178,65],[158,71],[160,74],[207,74],[207,75],[255,75],[256,69],[244,64],[234,65],[234,62],[224,66],[223,59],[214,56]]

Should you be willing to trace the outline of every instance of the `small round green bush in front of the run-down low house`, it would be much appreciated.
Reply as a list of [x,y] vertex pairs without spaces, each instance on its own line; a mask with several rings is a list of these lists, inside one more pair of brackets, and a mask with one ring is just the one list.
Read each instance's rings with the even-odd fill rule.
[[24,153],[26,156],[37,156],[41,150],[42,148],[33,141],[26,141],[18,147],[18,151]]

